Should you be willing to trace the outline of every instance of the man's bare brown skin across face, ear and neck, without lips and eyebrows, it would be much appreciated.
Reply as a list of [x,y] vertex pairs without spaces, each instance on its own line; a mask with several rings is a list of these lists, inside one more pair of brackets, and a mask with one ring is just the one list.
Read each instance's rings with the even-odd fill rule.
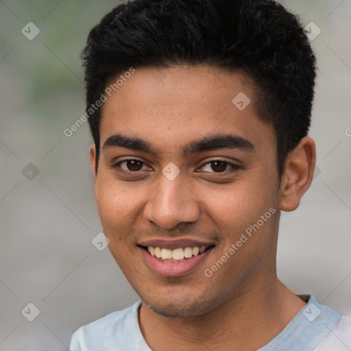
[[[244,110],[232,104],[239,92],[251,99]],[[157,156],[104,148],[117,133],[143,138]],[[186,157],[180,151],[195,139],[228,133],[254,148]],[[305,305],[276,276],[276,244],[280,210],[295,210],[311,184],[313,140],[303,138],[289,154],[279,186],[274,130],[258,118],[245,73],[185,65],[136,69],[104,103],[100,136],[97,174],[90,148],[99,216],[112,256],[141,297],[138,321],[149,348],[257,350],[276,337]],[[114,165],[125,158],[144,163],[123,173],[127,162]],[[208,163],[218,159],[240,168],[224,164],[219,171]],[[172,181],[162,174],[169,162],[180,169]],[[269,208],[276,213],[205,276]],[[216,246],[191,273],[164,277],[145,265],[136,246],[156,237],[205,238]]]

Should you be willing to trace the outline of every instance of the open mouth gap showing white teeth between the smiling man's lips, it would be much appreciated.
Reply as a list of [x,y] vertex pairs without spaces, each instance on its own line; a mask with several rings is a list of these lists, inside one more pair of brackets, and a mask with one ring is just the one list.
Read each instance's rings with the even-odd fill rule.
[[160,261],[165,261],[165,262],[186,261],[189,258],[203,254],[205,251],[209,250],[214,246],[215,245],[210,245],[207,247],[206,246],[178,247],[176,249],[170,250],[170,249],[165,249],[164,247],[138,245],[138,247],[141,247],[143,248],[143,250],[149,252],[150,255],[158,258]]

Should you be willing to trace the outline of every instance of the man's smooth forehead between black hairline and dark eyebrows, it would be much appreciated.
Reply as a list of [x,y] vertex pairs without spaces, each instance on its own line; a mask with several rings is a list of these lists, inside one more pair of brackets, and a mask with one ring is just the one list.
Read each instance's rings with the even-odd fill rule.
[[212,66],[136,69],[104,102],[100,146],[117,133],[156,147],[219,133],[254,144],[274,142],[271,126],[258,119],[256,110],[254,85],[242,71]]

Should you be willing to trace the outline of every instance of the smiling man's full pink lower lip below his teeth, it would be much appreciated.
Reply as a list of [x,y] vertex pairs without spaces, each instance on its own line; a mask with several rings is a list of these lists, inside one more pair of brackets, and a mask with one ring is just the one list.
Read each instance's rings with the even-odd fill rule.
[[139,250],[141,250],[141,254],[143,254],[145,263],[154,273],[160,276],[175,277],[184,276],[193,271],[193,269],[198,267],[206,259],[213,250],[213,247],[210,247],[202,254],[186,258],[186,260],[180,262],[161,261],[142,247],[139,247]]

